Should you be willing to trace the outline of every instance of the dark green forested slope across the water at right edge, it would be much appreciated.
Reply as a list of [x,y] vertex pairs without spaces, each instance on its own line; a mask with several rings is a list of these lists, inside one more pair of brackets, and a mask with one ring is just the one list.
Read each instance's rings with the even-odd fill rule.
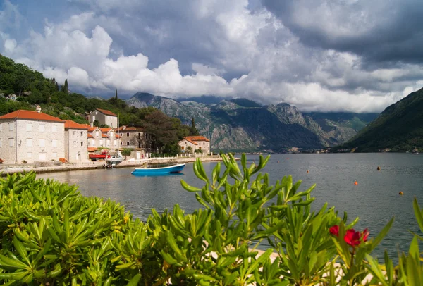
[[336,149],[411,151],[423,149],[423,89],[388,106],[353,139]]

